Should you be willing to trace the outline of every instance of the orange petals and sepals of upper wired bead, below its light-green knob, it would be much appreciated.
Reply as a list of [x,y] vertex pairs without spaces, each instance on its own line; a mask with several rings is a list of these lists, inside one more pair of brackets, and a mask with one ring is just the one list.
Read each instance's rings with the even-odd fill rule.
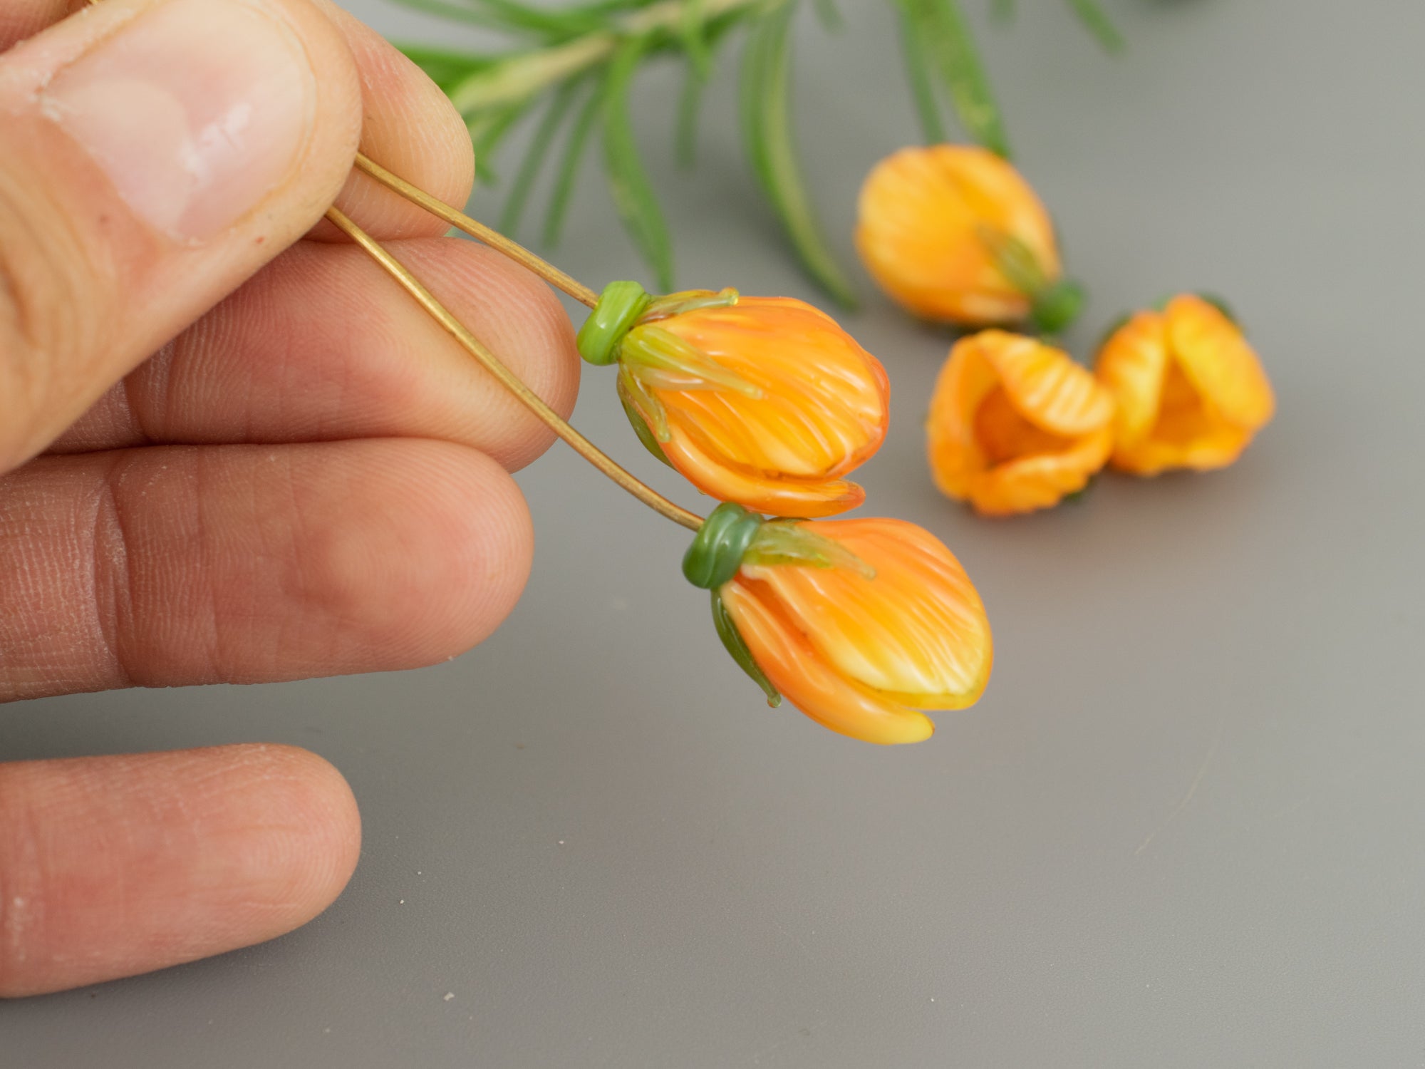
[[694,308],[636,325],[618,362],[624,402],[704,493],[775,516],[865,500],[842,476],[881,448],[891,385],[824,312],[781,296]]

